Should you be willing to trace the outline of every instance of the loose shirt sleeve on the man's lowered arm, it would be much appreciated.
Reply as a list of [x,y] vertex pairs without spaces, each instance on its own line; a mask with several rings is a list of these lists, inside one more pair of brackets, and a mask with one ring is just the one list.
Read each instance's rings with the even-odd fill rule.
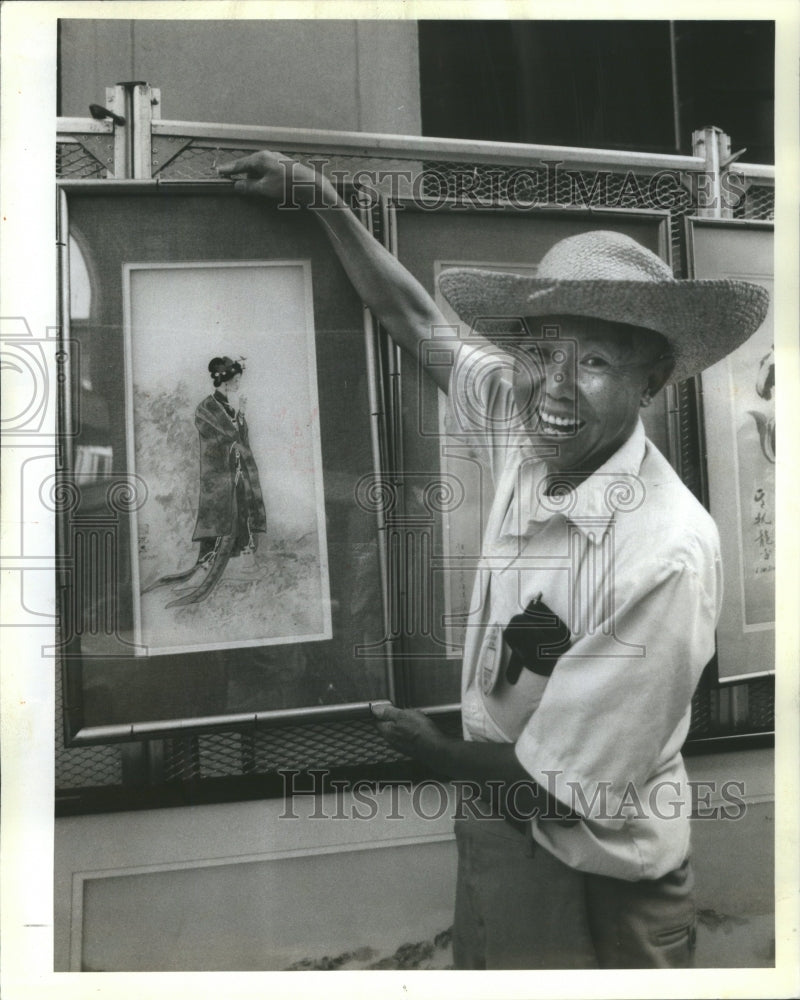
[[533,779],[570,806],[600,795],[616,811],[626,788],[647,782],[680,749],[714,653],[718,559],[711,553],[705,573],[704,565],[650,561],[639,577],[646,589],[627,595],[613,620],[556,664],[515,749]]

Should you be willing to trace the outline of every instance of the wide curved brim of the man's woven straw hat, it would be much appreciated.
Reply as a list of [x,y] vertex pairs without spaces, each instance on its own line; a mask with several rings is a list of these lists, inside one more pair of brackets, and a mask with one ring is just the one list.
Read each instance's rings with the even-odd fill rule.
[[470,327],[502,344],[525,316],[588,316],[655,330],[675,353],[672,381],[711,367],[761,326],[769,295],[732,278],[557,281],[506,271],[451,268],[439,277],[447,301]]

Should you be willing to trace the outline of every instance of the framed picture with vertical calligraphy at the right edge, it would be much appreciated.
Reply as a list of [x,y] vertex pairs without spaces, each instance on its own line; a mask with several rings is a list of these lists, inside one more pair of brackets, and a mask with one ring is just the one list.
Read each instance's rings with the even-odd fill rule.
[[[688,218],[691,277],[741,278],[773,298],[770,222]],[[720,682],[775,669],[775,358],[773,306],[733,354],[703,372],[709,509],[720,529],[725,593]],[[713,437],[712,437],[713,432]]]

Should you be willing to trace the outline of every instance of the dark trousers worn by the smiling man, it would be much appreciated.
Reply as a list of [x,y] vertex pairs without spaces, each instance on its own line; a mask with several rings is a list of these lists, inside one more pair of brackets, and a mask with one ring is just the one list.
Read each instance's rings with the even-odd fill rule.
[[570,868],[500,818],[455,823],[457,969],[691,968],[693,873],[627,882]]

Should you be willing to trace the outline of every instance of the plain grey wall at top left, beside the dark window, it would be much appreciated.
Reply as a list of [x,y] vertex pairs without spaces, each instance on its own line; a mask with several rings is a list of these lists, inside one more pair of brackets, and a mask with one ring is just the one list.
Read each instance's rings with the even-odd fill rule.
[[414,22],[63,20],[60,32],[65,116],[143,80],[171,120],[420,134]]

